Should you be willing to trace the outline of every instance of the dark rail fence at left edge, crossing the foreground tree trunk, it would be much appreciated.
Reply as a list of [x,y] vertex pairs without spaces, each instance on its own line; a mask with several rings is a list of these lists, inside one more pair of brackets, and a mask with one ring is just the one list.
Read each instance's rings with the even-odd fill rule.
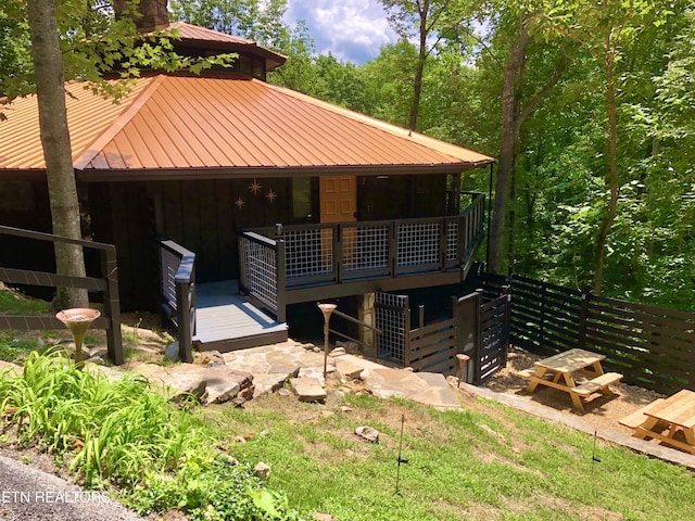
[[[118,268],[116,264],[116,249],[112,244],[80,241],[65,237],[22,230],[8,226],[0,226],[0,236],[11,236],[20,240],[62,242],[78,244],[85,250],[96,250],[101,256],[101,272],[99,277],[72,277],[47,271],[0,267],[0,280],[9,284],[23,284],[45,288],[85,288],[88,291],[100,292],[103,295],[103,312],[94,320],[92,328],[106,331],[106,347],[109,358],[115,365],[124,363],[123,342],[121,336],[121,305],[118,300]],[[17,316],[0,315],[0,329],[30,331],[40,329],[62,329],[65,326],[54,315]]]

